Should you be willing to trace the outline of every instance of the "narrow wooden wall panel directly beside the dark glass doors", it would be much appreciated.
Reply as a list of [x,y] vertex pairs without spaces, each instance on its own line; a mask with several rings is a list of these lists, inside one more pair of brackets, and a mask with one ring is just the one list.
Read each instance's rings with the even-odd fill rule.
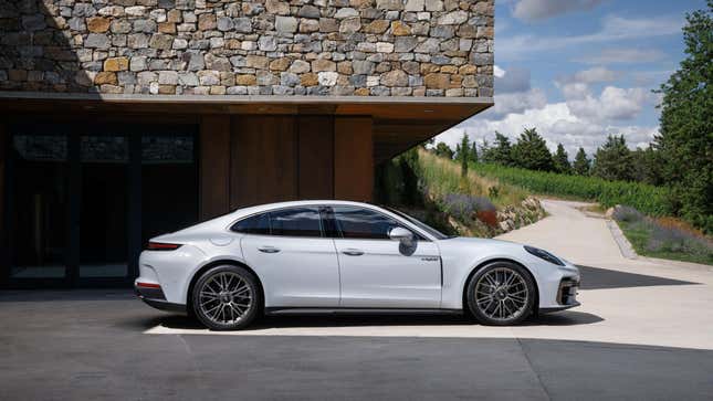
[[230,211],[230,116],[206,115],[200,122],[200,219]]

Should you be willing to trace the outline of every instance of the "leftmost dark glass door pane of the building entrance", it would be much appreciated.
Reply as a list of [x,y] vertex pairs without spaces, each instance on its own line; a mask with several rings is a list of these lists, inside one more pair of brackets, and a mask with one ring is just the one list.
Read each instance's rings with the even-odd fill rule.
[[67,275],[69,146],[65,135],[17,133],[10,144],[9,278],[62,284]]

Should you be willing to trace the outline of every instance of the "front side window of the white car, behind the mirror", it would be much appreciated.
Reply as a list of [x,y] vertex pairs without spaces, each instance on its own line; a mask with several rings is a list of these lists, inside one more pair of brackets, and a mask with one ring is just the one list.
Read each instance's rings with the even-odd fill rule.
[[345,239],[389,240],[389,232],[396,226],[402,226],[398,221],[371,211],[356,207],[334,207],[337,226]]

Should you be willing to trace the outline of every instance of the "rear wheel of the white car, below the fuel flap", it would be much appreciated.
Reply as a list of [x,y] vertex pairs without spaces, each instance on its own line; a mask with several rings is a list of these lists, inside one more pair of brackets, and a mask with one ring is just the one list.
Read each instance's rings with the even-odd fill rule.
[[[220,289],[220,281],[224,283],[228,279],[230,279],[229,284]],[[239,285],[240,289],[230,291],[229,286],[232,283],[238,283],[235,285]],[[210,294],[218,294],[218,296],[213,297]],[[247,294],[250,295],[249,302]],[[233,265],[212,267],[203,273],[193,286],[192,313],[200,323],[211,330],[245,328],[259,315],[262,305],[262,293],[258,279],[244,267]],[[218,307],[219,310],[213,307]]]

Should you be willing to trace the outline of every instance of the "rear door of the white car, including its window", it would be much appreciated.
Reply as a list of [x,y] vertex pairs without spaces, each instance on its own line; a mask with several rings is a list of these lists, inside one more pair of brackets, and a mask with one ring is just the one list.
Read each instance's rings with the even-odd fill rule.
[[[265,307],[337,307],[339,265],[316,207],[286,208],[237,224],[243,256],[265,292]],[[256,228],[256,229],[255,229]]]

